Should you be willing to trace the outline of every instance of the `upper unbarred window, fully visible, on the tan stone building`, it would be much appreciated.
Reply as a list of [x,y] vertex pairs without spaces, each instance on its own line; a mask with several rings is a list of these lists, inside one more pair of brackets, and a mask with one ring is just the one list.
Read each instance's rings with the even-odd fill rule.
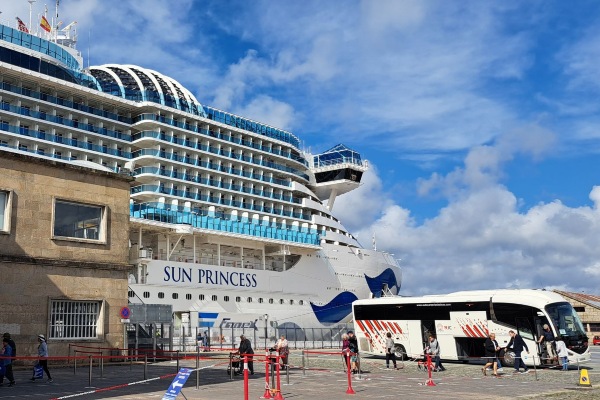
[[105,240],[105,207],[56,200],[54,237]]

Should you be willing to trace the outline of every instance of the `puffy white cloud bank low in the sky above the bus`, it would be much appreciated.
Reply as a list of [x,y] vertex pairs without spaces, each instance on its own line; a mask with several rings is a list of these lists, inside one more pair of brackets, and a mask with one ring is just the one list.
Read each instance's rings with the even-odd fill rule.
[[337,212],[366,211],[358,213],[363,225],[355,233],[370,243],[374,232],[378,249],[402,260],[405,294],[517,287],[594,292],[600,284],[595,272],[600,188],[591,189],[593,207],[553,201],[520,210],[519,199],[498,184],[503,162],[516,152],[547,150],[541,143],[551,133],[532,127],[526,131],[533,133],[530,140],[522,137],[524,144],[502,138],[475,148],[464,168],[425,181],[444,187],[449,203],[421,224],[394,203],[376,171],[365,175],[368,190],[338,201]]

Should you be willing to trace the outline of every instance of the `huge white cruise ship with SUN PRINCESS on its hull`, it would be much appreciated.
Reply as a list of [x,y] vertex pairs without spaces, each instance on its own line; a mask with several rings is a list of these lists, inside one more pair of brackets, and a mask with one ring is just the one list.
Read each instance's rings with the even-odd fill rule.
[[258,320],[303,330],[398,293],[394,256],[363,248],[332,213],[368,168],[356,151],[311,154],[295,134],[201,104],[154,70],[84,68],[74,24],[0,33],[0,156],[135,178],[131,304],[169,305],[190,330]]

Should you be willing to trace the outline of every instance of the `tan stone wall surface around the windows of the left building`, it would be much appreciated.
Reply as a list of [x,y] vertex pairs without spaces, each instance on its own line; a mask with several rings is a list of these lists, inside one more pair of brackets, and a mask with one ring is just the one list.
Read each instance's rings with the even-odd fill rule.
[[[10,231],[0,233],[0,332],[18,355],[37,354],[37,335],[51,336],[51,300],[104,302],[96,340],[52,339],[51,356],[69,344],[123,348],[119,311],[127,306],[131,178],[0,150],[0,190],[12,191]],[[105,206],[106,242],[52,238],[54,200]]]

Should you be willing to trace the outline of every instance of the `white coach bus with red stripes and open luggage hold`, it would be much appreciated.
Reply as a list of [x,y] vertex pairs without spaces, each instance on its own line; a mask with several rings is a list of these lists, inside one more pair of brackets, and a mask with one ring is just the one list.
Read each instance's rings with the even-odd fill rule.
[[[441,358],[478,359],[484,342],[494,332],[501,347],[510,341],[509,330],[519,333],[529,348],[523,361],[549,363],[545,346],[536,340],[544,324],[567,345],[570,363],[590,360],[588,338],[579,316],[562,296],[545,290],[479,290],[422,297],[380,297],[352,303],[359,351],[385,355],[390,332],[398,357],[417,358],[429,334],[437,337]],[[511,349],[500,354],[504,365],[514,365]]]

